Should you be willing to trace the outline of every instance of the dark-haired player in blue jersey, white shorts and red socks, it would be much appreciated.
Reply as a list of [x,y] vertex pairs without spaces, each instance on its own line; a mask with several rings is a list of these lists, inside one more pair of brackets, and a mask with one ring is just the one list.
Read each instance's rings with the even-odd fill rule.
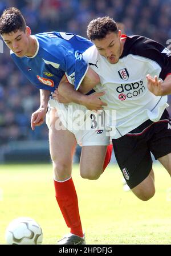
[[[42,124],[50,93],[58,87],[64,75],[72,79],[75,89],[80,83],[83,86],[88,83],[93,87],[99,82],[99,76],[83,60],[82,53],[92,46],[87,39],[64,32],[45,32],[31,36],[31,30],[26,26],[21,12],[14,7],[3,12],[0,33],[10,48],[11,57],[18,68],[40,90],[40,108],[32,116],[32,129]],[[88,109],[103,109],[103,105],[106,104],[99,99],[101,95],[104,93],[83,95],[77,99],[77,103],[85,105]],[[77,109],[78,106],[72,105],[73,109]],[[82,106],[80,110],[85,112],[86,107]],[[58,116],[56,108],[59,110]],[[105,136],[103,129],[93,130],[89,127],[88,131],[79,131],[65,129],[63,124],[62,129],[56,129],[59,116],[63,118],[60,110],[66,113],[67,108],[67,104],[59,104],[52,99],[47,121],[50,128],[50,153],[54,167],[56,200],[67,226],[71,229],[71,233],[59,244],[84,244],[78,198],[71,177],[76,142],[83,145],[80,173],[82,177],[92,180],[98,178],[108,164],[111,148],[107,150],[109,137]],[[88,118],[92,115],[89,112]],[[87,117],[86,114],[83,117]]]

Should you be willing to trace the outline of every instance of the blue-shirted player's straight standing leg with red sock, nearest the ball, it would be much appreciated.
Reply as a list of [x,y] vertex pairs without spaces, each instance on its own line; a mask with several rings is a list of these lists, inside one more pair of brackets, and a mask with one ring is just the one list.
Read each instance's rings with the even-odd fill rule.
[[[71,233],[83,237],[78,198],[71,177],[72,156],[76,147],[76,139],[70,131],[56,129],[55,125],[58,123],[60,123],[59,117],[56,116],[56,110],[53,109],[50,111],[49,139],[56,200]],[[62,244],[72,244],[72,242],[74,243],[71,239],[68,241],[68,238],[62,240]]]

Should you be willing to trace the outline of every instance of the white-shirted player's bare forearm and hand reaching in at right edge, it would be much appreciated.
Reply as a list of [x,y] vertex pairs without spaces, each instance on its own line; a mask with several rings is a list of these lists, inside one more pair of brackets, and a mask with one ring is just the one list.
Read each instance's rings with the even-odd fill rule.
[[171,94],[171,75],[166,76],[164,82],[157,78],[157,76],[146,75],[148,81],[148,90],[156,96],[164,96]]

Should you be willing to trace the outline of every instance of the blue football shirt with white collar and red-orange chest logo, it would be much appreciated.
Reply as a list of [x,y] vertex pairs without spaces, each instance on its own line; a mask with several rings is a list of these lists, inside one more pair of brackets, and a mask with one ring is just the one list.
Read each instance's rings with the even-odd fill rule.
[[11,51],[11,57],[27,79],[38,89],[54,91],[66,74],[77,89],[88,69],[82,53],[92,46],[91,41],[54,31],[32,36],[38,44],[34,56],[19,58]]

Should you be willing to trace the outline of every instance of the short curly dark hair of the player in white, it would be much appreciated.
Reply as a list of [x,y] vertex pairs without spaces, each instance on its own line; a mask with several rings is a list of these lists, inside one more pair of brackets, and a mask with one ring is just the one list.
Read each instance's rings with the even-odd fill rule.
[[93,19],[87,27],[87,36],[90,40],[105,38],[109,32],[118,32],[116,22],[107,16]]

